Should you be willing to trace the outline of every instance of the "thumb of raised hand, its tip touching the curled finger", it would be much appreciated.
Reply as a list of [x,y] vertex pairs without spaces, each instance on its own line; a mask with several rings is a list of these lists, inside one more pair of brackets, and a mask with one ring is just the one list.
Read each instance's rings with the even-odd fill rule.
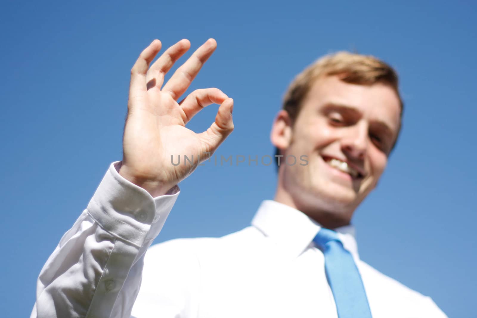
[[234,100],[226,99],[218,108],[215,122],[203,133],[199,134],[207,149],[202,149],[203,152],[210,152],[213,154],[218,146],[228,137],[234,130],[234,123],[232,121],[232,111],[234,108]]

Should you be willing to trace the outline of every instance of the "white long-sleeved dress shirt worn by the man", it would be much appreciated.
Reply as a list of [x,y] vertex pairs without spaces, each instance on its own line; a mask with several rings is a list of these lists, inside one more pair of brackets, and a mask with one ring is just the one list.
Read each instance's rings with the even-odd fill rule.
[[[111,164],[88,207],[42,268],[31,318],[337,318],[313,242],[320,225],[265,200],[249,227],[149,248],[178,187],[153,198]],[[374,318],[443,318],[430,297],[359,259],[353,226],[337,228]]]

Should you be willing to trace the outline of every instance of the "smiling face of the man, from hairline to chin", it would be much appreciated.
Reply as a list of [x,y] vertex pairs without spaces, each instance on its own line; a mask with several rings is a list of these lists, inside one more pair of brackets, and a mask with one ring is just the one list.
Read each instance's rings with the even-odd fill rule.
[[[283,187],[296,207],[351,218],[383,173],[399,124],[400,102],[390,86],[349,84],[337,76],[317,80],[285,151],[297,164],[281,164]],[[301,155],[307,165],[300,165]]]

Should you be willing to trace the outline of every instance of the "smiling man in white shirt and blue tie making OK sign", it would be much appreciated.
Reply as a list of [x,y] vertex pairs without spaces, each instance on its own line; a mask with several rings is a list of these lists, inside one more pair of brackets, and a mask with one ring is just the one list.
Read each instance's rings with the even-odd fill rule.
[[[394,70],[369,56],[324,57],[290,85],[270,135],[281,159],[276,195],[252,226],[145,254],[177,184],[199,164],[175,165],[171,155],[204,161],[234,127],[233,100],[218,89],[177,102],[214,40],[163,86],[189,47],[179,41],[150,66],[155,40],[135,63],[123,160],[43,267],[31,317],[446,317],[357,253],[351,218],[384,171],[403,107]],[[220,107],[206,132],[185,128],[211,103]]]

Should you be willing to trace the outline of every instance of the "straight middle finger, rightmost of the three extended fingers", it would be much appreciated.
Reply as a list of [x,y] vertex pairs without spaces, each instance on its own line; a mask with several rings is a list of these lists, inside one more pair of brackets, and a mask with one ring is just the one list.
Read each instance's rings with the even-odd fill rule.
[[208,39],[177,69],[166,85],[164,85],[162,91],[169,93],[172,98],[177,100],[186,92],[190,83],[202,68],[202,65],[204,65],[216,48],[217,42],[214,39]]

